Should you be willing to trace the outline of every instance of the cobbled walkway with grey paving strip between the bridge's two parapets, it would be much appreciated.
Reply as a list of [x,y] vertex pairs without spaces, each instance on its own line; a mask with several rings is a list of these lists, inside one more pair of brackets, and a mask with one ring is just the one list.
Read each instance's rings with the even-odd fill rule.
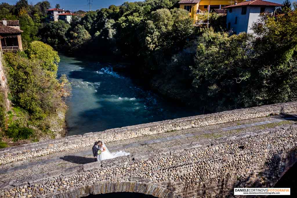
[[[187,144],[203,139],[215,139],[222,136],[231,136],[253,130],[297,123],[296,120],[297,119],[294,116],[287,118],[282,116],[271,116],[238,122],[229,122],[221,125],[211,125],[204,128],[198,127],[180,131],[170,131],[167,133],[154,134],[141,138],[110,142],[107,146],[111,151],[124,150],[130,153],[139,153],[155,150],[156,148]],[[79,164],[87,164],[94,161],[95,159],[92,156],[91,147],[83,147],[59,154],[51,154],[29,160],[4,164],[0,166],[0,183],[58,169],[75,167]]]

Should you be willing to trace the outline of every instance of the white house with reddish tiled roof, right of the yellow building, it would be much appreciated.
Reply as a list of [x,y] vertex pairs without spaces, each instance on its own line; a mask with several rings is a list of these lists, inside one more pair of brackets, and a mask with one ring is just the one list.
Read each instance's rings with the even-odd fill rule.
[[240,32],[253,33],[252,24],[266,13],[274,14],[275,8],[279,6],[283,5],[269,1],[252,0],[224,7],[227,9],[228,30],[232,30],[236,34]]

